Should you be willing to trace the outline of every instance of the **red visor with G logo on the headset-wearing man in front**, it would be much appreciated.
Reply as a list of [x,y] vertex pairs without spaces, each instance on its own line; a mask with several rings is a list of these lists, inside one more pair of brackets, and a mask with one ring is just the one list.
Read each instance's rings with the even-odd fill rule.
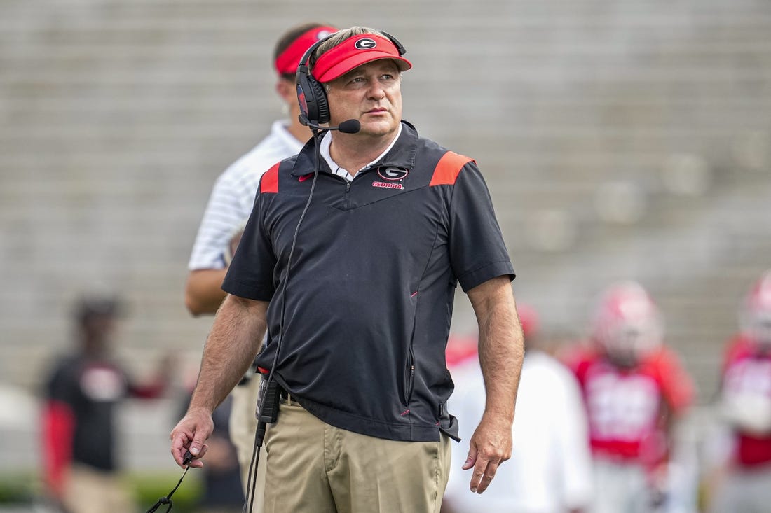
[[378,59],[392,59],[400,71],[412,68],[412,62],[399,55],[393,42],[377,34],[360,34],[324,52],[313,66],[318,82],[330,82],[357,66]]

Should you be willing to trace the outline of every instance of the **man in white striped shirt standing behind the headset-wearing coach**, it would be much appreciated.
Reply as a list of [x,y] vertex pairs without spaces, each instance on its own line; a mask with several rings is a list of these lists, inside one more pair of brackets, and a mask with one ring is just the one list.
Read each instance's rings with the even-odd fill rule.
[[[295,72],[305,51],[336,30],[330,25],[308,22],[289,28],[276,42],[273,52],[277,75],[275,90],[288,118],[273,122],[271,133],[217,178],[188,264],[190,273],[185,287],[185,304],[190,314],[200,316],[217,312],[225,297],[222,280],[241,240],[262,173],[281,159],[299,153],[311,138],[311,130],[298,120],[300,107]],[[231,440],[237,447],[244,491],[248,489],[247,478],[257,428],[254,407],[259,384],[258,373],[251,368],[232,393],[228,425]],[[258,465],[260,482],[264,468],[264,464]],[[254,511],[258,511],[256,507]]]

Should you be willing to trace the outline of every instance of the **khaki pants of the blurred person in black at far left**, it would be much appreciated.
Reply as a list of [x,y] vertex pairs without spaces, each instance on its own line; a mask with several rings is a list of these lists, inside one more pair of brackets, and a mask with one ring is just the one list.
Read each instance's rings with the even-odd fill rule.
[[116,474],[73,464],[67,473],[64,505],[71,513],[135,513],[136,505]]

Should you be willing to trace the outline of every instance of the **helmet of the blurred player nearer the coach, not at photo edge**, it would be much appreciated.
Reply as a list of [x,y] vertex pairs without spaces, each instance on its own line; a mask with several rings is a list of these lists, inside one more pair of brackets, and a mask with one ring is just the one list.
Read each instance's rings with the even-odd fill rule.
[[596,344],[617,364],[635,365],[662,344],[662,316],[648,292],[634,281],[604,290],[591,324]]

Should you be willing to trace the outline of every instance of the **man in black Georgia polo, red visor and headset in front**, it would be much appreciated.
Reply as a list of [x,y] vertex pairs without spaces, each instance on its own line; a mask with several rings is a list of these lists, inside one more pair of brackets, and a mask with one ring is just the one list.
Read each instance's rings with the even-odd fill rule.
[[439,511],[457,434],[444,357],[456,283],[489,384],[465,464],[471,488],[483,492],[510,457],[523,351],[513,267],[476,163],[402,121],[403,53],[362,27],[306,52],[307,122],[341,130],[320,130],[262,176],[172,431],[177,464],[189,449],[202,465],[210,414],[268,328],[258,364],[278,419],[265,434],[264,511]]

